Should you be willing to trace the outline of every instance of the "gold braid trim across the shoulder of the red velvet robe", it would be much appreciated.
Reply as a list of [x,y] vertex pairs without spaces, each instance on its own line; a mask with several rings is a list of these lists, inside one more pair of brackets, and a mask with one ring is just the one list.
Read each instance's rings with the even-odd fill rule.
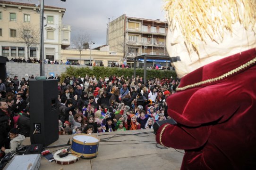
[[184,86],[182,88],[179,88],[179,86],[178,86],[178,88],[176,88],[176,91],[185,90],[185,89],[189,89],[189,88],[194,88],[194,87],[197,87],[197,86],[201,86],[202,84],[212,83],[212,82],[215,82],[215,81],[220,81],[220,80],[222,80],[224,78],[227,78],[230,75],[232,75],[234,73],[237,73],[237,72],[239,72],[239,71],[241,71],[241,70],[243,70],[243,69],[247,68],[248,66],[250,66],[252,64],[255,64],[255,63],[256,63],[256,57],[254,59],[248,61],[246,64],[240,65],[239,67],[229,71],[228,73],[224,73],[219,77],[208,79],[208,80],[205,80],[205,81],[200,81],[200,82],[197,82],[197,83],[194,83],[194,84]]

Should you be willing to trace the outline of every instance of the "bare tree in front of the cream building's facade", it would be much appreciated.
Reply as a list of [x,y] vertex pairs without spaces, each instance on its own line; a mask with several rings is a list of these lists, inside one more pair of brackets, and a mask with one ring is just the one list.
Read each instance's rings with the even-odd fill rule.
[[31,24],[19,24],[17,33],[17,41],[26,44],[27,57],[29,57],[29,48],[36,47],[39,43],[40,31]]

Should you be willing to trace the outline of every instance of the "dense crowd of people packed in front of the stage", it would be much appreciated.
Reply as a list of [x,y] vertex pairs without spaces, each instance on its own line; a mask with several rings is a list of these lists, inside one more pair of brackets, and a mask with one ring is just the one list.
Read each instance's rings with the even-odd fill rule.
[[[30,79],[33,79],[32,75]],[[101,133],[151,129],[169,119],[166,98],[175,93],[179,79],[142,77],[66,77],[58,80],[59,134]],[[0,147],[9,151],[9,132],[30,135],[29,80],[0,80]]]

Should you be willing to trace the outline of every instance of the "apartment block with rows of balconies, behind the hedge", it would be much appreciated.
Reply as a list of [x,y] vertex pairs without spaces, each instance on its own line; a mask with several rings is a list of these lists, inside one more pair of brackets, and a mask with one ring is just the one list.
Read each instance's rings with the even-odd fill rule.
[[[129,17],[125,14],[109,23],[108,45],[110,51],[123,52],[127,63],[133,66],[136,56],[166,56],[168,25],[166,21]],[[158,63],[167,61],[158,61]],[[157,62],[154,62],[157,63]]]

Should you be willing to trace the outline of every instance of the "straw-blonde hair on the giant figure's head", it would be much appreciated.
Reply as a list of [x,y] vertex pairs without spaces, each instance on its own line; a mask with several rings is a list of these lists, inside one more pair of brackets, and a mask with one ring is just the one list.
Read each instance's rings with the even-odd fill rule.
[[198,43],[207,38],[222,42],[224,30],[232,34],[232,24],[239,22],[246,30],[256,27],[256,0],[165,1],[170,31],[179,25],[189,54],[194,50],[199,57]]

